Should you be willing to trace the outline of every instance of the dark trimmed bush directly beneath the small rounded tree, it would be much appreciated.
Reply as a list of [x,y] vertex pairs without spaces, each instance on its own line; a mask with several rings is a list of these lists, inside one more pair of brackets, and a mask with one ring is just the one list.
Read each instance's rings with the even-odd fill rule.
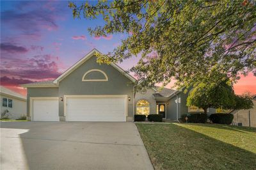
[[186,116],[188,117],[188,123],[205,123],[207,121],[207,114],[202,112],[182,114],[183,122],[186,122]]

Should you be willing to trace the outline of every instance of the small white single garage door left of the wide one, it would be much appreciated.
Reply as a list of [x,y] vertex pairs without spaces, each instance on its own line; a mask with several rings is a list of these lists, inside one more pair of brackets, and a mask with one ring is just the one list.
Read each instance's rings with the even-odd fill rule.
[[60,121],[57,99],[33,99],[33,121]]

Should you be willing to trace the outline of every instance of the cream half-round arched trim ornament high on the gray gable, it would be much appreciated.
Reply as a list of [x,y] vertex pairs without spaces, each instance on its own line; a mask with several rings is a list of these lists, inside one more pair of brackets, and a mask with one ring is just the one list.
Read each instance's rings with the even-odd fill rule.
[[108,81],[108,75],[102,70],[92,69],[84,73],[82,81]]

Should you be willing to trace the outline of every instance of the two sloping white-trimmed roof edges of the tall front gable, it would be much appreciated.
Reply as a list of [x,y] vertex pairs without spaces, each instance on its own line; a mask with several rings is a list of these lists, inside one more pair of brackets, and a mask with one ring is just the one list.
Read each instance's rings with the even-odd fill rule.
[[[53,82],[58,84],[58,82],[60,82],[61,80],[63,80],[65,77],[67,77],[67,75],[69,75],[71,72],[73,72],[74,70],[76,70],[76,68],[78,68],[79,66],[83,65],[83,63],[85,63],[88,59],[92,58],[92,56],[94,56],[97,52],[99,52],[99,50],[97,49],[93,49],[91,50],[88,54],[86,54],[86,56],[84,56],[84,58],[80,59],[79,61],[77,61],[76,64],[72,65],[70,68],[68,68],[68,70],[66,70],[64,73],[62,73],[57,79],[55,79]],[[99,52],[101,54],[101,52]],[[114,68],[116,68],[116,70],[118,70],[120,73],[124,74],[125,77],[127,77],[128,79],[130,79],[132,82],[135,82],[136,79],[134,79],[134,77],[132,77],[131,75],[129,75],[129,73],[125,72],[122,68],[120,68],[120,66],[116,65],[115,63],[111,63],[111,66],[113,66]]]

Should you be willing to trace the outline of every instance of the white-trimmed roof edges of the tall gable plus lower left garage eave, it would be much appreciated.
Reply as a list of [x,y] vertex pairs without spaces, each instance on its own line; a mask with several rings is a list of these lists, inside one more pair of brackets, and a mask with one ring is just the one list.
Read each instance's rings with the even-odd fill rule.
[[[96,52],[99,52],[99,50],[97,50],[97,49],[91,50],[88,54],[86,54],[86,56],[84,56],[84,58],[77,61],[77,63],[72,65],[70,68],[68,68],[68,70],[63,72],[54,81],[32,82],[32,83],[29,83],[29,84],[22,84],[21,86],[25,87],[25,88],[33,88],[33,87],[35,87],[35,88],[54,88],[54,87],[58,87],[58,84],[59,84],[60,81],[62,81],[65,77],[67,77],[67,75],[69,75],[71,72],[76,70],[76,68],[83,65],[83,63],[85,63],[88,59],[92,58],[92,56],[94,56],[96,54]],[[101,52],[99,52],[99,53],[101,54]],[[116,65],[115,63],[111,63],[110,65],[113,66],[120,73],[125,75],[125,77],[130,79],[132,82],[136,82],[136,79],[134,79],[134,77],[129,75],[129,73],[125,72],[125,70],[120,68],[120,66]]]

